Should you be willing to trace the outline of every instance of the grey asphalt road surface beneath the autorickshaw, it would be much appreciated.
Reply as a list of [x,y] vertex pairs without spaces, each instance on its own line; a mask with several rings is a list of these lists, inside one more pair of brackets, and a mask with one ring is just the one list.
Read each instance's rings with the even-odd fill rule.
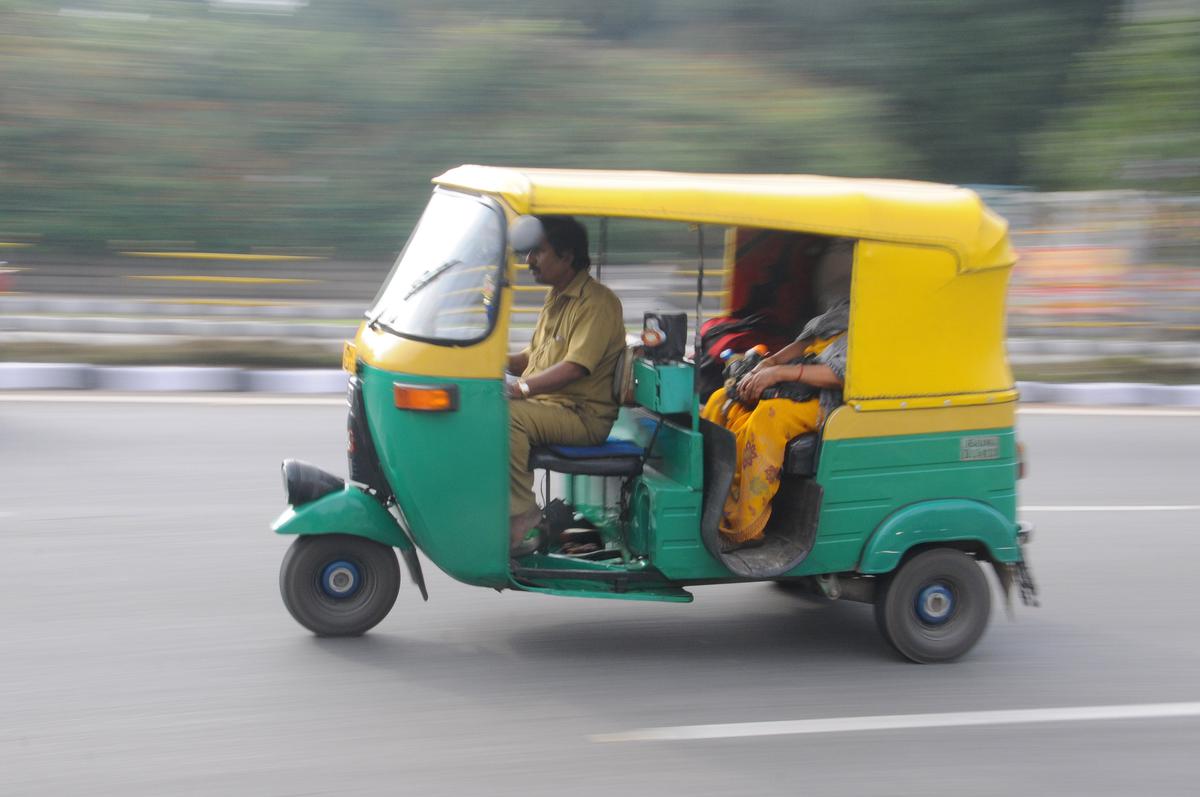
[[1196,414],[1022,414],[1044,605],[918,666],[869,607],[766,585],[658,605],[428,573],[428,604],[406,583],[366,637],[317,640],[280,603],[268,525],[282,457],[343,471],[337,402],[95,398],[0,400],[2,795],[1196,791],[1195,712],[594,738],[1200,701],[1200,511],[1178,508],[1200,504]]

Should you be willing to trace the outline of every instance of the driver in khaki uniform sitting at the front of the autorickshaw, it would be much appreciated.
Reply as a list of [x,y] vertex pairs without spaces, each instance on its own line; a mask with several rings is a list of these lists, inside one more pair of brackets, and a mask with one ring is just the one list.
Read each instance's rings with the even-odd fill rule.
[[533,340],[509,355],[509,544],[512,556],[541,543],[533,495],[533,445],[599,445],[617,419],[613,371],[625,347],[620,300],[588,274],[588,233],[571,216],[539,216],[544,236],[528,254],[550,286]]

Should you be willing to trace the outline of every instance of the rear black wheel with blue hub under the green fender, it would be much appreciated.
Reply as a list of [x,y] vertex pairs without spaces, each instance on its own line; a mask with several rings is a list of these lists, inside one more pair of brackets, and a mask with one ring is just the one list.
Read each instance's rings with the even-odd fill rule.
[[954,549],[912,557],[884,580],[875,619],[901,655],[919,664],[956,659],[979,641],[991,589],[974,558]]

